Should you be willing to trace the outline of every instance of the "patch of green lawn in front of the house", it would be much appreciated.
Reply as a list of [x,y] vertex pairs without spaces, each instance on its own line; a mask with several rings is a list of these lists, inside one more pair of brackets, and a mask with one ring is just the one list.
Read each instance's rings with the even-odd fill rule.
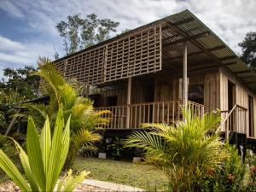
[[90,171],[90,177],[102,181],[131,185],[142,189],[166,189],[166,176],[153,166],[96,158],[77,158],[76,171]]

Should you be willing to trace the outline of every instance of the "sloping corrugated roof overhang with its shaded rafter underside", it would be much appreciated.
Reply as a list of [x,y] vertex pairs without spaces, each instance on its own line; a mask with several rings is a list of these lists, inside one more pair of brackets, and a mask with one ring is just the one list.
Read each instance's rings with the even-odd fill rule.
[[[184,10],[175,15],[167,16],[164,19],[140,26],[100,44],[83,49],[73,55],[65,56],[56,60],[55,63],[67,61],[78,55],[84,54],[85,52],[108,44],[118,43],[122,39],[134,37],[137,34],[146,32],[148,29],[158,26],[160,26],[160,50],[162,51],[162,57],[160,58],[160,66],[157,70],[152,70],[152,72],[155,73],[156,71],[161,70],[162,63],[169,62],[171,64],[170,66],[173,67],[173,64],[182,61],[183,43],[188,42],[188,66],[190,65],[193,70],[211,67],[226,67],[230,72],[234,73],[236,77],[241,79],[247,87],[256,91],[256,73],[247,67],[247,65],[239,59],[236,53],[234,53],[223,40],[218,38],[210,28],[202,23],[201,20],[189,10]],[[137,66],[139,65],[140,63],[137,63]],[[150,71],[148,73],[152,72]],[[123,79],[126,79],[127,77],[124,76]]]

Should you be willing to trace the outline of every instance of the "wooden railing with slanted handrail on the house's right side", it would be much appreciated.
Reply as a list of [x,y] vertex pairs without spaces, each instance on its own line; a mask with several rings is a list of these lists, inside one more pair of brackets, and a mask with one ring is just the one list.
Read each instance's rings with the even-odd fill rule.
[[247,108],[236,104],[230,111],[222,111],[222,122],[218,130],[225,131],[226,139],[230,131],[245,133],[247,131]]

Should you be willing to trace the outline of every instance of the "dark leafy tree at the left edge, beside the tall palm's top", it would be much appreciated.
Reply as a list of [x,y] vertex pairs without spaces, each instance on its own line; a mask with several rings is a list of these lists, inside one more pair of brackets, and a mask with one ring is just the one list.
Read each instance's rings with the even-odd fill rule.
[[20,100],[32,99],[38,96],[39,78],[32,75],[38,69],[31,66],[24,68],[4,68],[5,79],[0,82],[0,90],[9,95],[16,95]]

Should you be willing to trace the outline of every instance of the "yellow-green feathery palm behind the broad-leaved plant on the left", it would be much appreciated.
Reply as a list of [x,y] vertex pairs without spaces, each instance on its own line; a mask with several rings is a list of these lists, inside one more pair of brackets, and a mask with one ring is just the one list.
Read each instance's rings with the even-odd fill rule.
[[56,113],[62,104],[64,117],[71,115],[72,139],[67,156],[67,162],[71,163],[79,148],[95,150],[94,143],[101,137],[94,133],[94,129],[98,125],[108,123],[108,119],[102,118],[102,113],[108,113],[108,111],[95,112],[92,107],[93,102],[78,96],[79,90],[75,88],[76,86],[67,82],[50,61],[41,60],[38,67],[40,70],[35,75],[42,79],[41,91],[49,96],[49,104],[27,103],[23,106],[28,108],[28,114],[32,115],[36,125],[41,127],[47,115],[50,117],[50,124],[55,122]]

